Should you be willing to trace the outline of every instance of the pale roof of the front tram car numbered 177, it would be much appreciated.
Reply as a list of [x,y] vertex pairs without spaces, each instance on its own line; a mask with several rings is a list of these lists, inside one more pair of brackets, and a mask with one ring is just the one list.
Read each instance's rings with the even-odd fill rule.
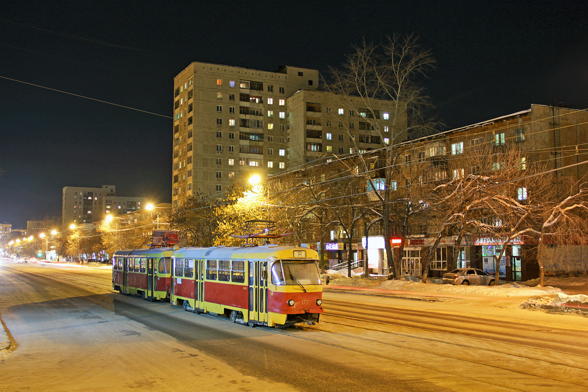
[[[295,257],[293,251],[306,251],[305,257]],[[173,257],[185,257],[193,259],[268,259],[276,256],[279,259],[316,259],[316,250],[298,246],[287,245],[260,245],[260,246],[218,246],[218,247],[185,247],[175,250]]]

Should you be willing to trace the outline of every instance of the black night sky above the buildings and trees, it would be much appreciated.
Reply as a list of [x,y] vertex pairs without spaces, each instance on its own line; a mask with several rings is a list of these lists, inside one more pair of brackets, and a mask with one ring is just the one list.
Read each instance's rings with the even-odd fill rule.
[[64,186],[171,202],[173,78],[192,61],[326,73],[362,37],[414,32],[452,129],[532,103],[588,108],[587,23],[585,0],[4,0],[0,222],[61,217]]

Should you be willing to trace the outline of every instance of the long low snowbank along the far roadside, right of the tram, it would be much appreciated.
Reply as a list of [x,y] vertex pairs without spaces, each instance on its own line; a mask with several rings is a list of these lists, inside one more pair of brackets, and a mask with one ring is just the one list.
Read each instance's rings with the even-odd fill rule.
[[427,283],[420,278],[404,275],[397,280],[363,279],[361,277],[340,278],[330,276],[329,286],[370,287],[372,289],[399,290],[403,292],[467,294],[490,297],[530,297],[546,296],[560,293],[556,287],[528,287],[519,283],[500,284],[499,286],[454,286],[442,284],[442,279],[429,279]]

